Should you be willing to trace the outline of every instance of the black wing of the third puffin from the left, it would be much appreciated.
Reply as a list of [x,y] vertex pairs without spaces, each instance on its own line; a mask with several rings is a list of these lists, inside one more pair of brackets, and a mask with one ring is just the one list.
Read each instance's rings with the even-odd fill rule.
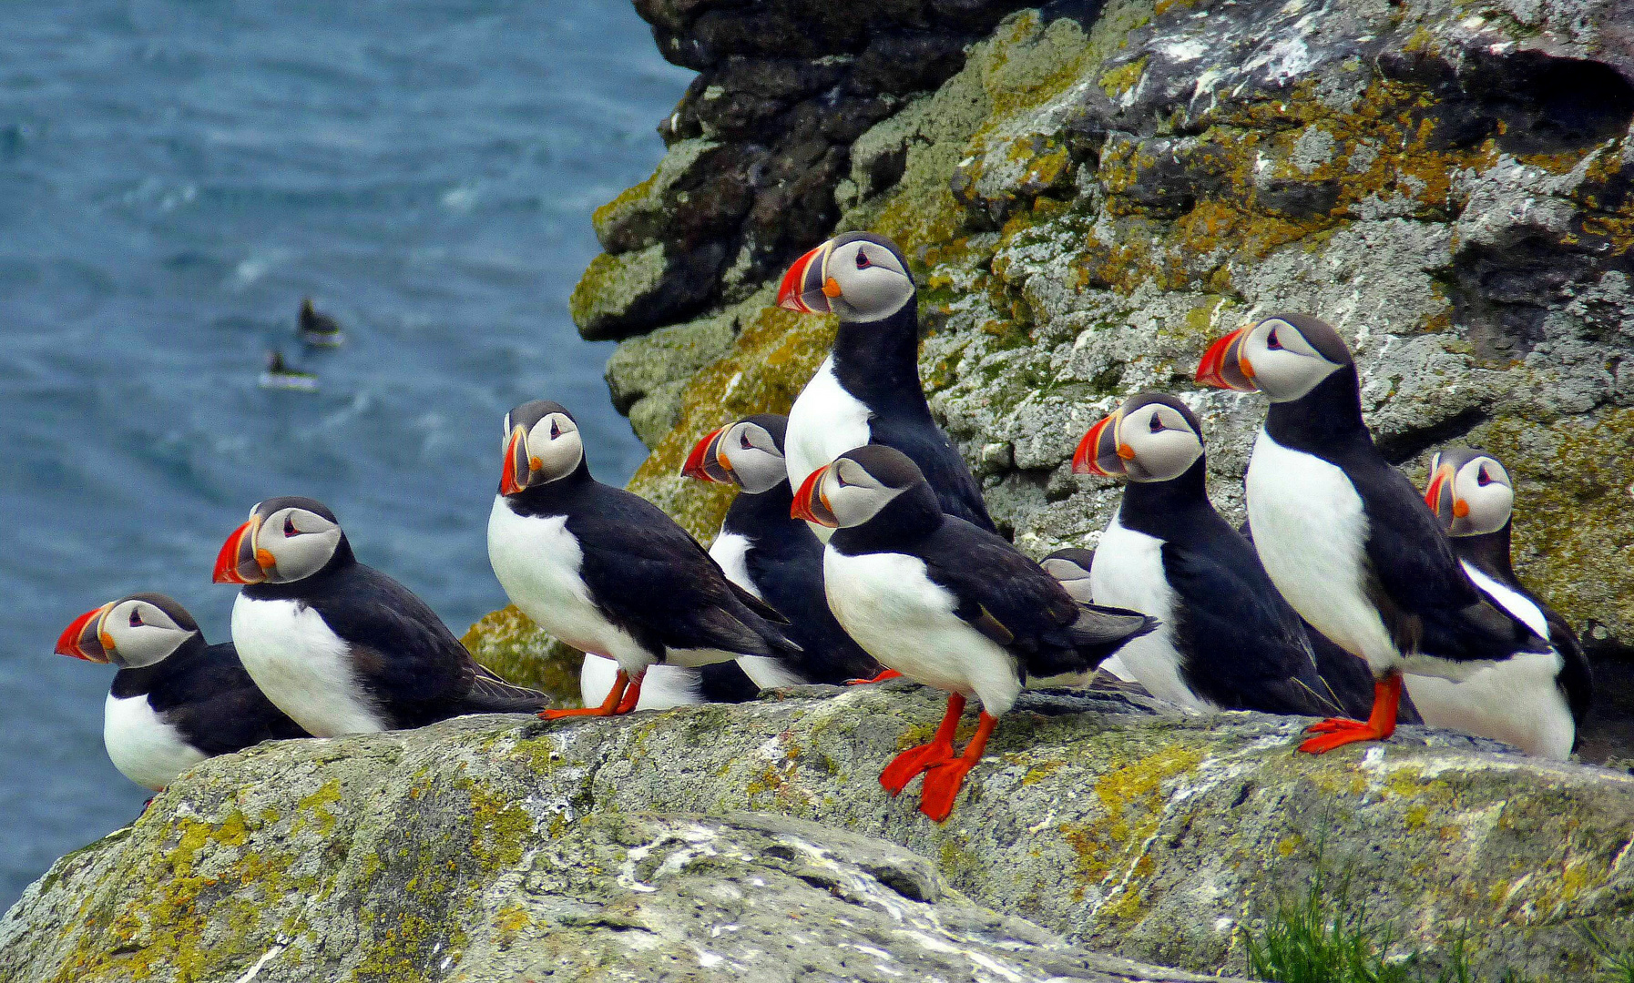
[[[567,529],[583,552],[580,576],[609,620],[642,645],[791,656],[781,619],[735,586],[670,516],[623,488],[593,485]],[[766,614],[761,614],[765,611]]]

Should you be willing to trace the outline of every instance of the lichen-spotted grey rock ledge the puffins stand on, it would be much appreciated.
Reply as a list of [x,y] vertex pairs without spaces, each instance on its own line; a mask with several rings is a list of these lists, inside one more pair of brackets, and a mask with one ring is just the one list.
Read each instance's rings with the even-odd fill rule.
[[1149,705],[1028,694],[941,826],[874,781],[940,715],[902,683],[261,745],[29,887],[0,980],[1191,980],[1088,952],[1240,970],[1319,862],[1397,949],[1565,980],[1634,908],[1627,774]]

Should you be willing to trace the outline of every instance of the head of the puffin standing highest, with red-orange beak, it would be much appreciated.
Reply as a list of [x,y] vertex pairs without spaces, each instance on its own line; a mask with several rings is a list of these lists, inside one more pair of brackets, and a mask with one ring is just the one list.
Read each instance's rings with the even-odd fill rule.
[[838,314],[843,322],[891,317],[913,300],[913,274],[894,242],[846,232],[806,253],[783,274],[778,307]]

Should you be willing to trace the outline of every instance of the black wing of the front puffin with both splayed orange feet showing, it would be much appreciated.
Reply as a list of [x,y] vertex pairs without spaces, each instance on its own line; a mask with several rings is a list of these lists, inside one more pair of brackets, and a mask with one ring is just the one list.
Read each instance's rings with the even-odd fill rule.
[[958,518],[943,521],[913,552],[954,594],[956,614],[1016,658],[1023,679],[1093,669],[1157,627],[1144,614],[1074,601],[1013,545]]

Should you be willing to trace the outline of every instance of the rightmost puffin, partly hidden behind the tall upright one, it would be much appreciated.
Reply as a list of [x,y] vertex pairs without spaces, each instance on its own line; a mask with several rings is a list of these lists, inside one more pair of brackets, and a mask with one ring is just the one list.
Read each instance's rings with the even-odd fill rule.
[[1578,745],[1593,673],[1572,627],[1515,576],[1510,565],[1515,485],[1503,464],[1474,447],[1430,459],[1425,503],[1453,539],[1453,554],[1482,594],[1554,648],[1493,663],[1461,683],[1409,673],[1407,692],[1425,722],[1565,761]]

